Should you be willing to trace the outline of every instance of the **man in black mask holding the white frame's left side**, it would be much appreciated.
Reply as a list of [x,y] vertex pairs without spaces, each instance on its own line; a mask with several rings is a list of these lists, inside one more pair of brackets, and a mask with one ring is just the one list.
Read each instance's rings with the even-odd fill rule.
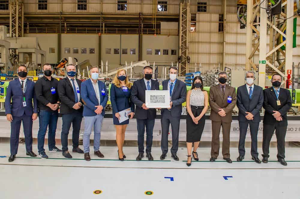
[[146,157],[148,160],[153,160],[151,154],[153,128],[156,117],[155,108],[147,108],[145,104],[145,91],[146,90],[159,90],[159,83],[152,78],[153,69],[150,66],[144,67],[144,78],[137,80],[133,83],[131,90],[131,101],[136,105],[135,116],[137,119],[137,143],[139,146],[139,155],[137,160],[141,160],[144,157],[144,133],[146,125]]

